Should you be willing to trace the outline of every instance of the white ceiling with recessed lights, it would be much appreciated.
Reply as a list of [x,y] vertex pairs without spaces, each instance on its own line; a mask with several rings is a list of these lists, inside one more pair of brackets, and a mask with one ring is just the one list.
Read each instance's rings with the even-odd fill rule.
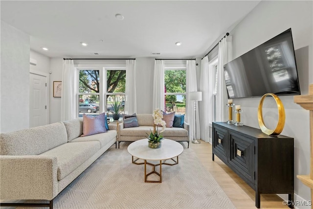
[[1,21],[29,34],[32,50],[48,57],[193,58],[204,56],[259,2],[1,0],[0,14]]

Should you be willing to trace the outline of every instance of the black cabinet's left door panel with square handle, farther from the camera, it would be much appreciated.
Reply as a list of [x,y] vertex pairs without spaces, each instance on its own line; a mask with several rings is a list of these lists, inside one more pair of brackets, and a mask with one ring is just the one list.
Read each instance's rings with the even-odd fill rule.
[[227,162],[227,134],[228,131],[218,126],[213,127],[213,153]]

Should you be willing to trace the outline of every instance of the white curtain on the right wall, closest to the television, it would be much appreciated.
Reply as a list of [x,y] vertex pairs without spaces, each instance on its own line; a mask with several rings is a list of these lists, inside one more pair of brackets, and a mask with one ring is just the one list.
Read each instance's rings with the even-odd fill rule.
[[232,37],[226,36],[219,42],[217,92],[216,92],[216,121],[226,121],[227,116],[227,90],[224,76],[224,65],[231,59]]

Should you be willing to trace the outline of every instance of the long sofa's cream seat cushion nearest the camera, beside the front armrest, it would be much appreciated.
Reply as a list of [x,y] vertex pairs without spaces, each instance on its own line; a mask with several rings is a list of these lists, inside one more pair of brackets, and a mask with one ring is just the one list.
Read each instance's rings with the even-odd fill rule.
[[54,156],[58,162],[58,180],[63,179],[98,150],[99,141],[69,142],[46,151],[41,156]]

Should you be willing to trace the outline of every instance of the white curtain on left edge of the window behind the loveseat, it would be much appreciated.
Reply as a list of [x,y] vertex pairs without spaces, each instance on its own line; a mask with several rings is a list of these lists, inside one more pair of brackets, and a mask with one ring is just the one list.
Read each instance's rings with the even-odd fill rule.
[[155,60],[152,108],[164,111],[164,60]]

